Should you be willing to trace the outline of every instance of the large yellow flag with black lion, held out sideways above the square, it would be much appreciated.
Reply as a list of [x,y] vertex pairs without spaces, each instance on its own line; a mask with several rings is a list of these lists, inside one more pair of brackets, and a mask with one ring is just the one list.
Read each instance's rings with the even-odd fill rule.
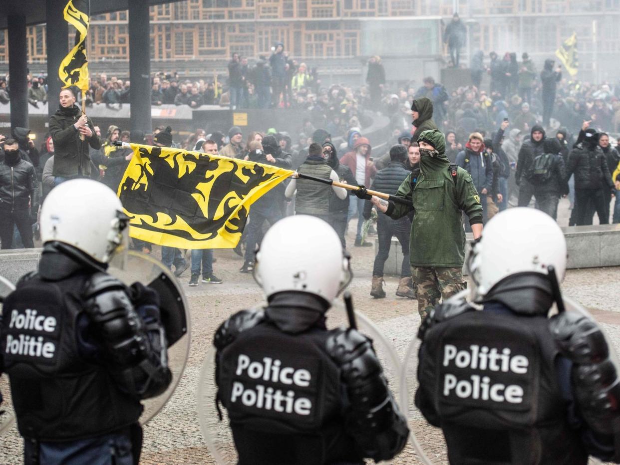
[[235,247],[250,205],[293,174],[224,156],[130,146],[133,157],[118,186],[129,235],[160,246]]

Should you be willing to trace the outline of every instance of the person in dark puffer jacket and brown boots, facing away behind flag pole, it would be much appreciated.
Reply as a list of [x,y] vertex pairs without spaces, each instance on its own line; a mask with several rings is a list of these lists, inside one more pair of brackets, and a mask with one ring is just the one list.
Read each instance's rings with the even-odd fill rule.
[[[402,144],[396,144],[389,150],[390,162],[382,170],[379,170],[374,177],[372,190],[396,195],[399,187],[405,178],[411,174],[405,167],[407,159],[407,148]],[[373,204],[366,200],[364,206],[364,218],[370,218],[370,211]],[[401,280],[399,281],[396,295],[415,299],[415,291],[411,280],[411,267],[409,264],[409,235],[411,232],[411,219],[403,216],[401,219],[392,219],[387,215],[379,215],[377,218],[377,237],[379,240],[379,252],[374,257],[373,282],[370,295],[375,299],[386,296],[383,290],[383,268],[389,255],[392,244],[392,236],[396,236],[401,243],[402,265]]]

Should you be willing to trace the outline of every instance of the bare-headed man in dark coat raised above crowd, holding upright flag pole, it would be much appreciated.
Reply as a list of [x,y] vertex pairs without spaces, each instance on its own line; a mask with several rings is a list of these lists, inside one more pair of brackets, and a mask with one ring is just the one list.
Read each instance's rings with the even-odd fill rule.
[[[71,89],[60,91],[60,108],[50,118],[50,135],[54,140],[56,185],[76,177],[91,175],[89,146],[99,149],[101,140],[91,118],[81,115]],[[84,140],[81,139],[84,136]]]

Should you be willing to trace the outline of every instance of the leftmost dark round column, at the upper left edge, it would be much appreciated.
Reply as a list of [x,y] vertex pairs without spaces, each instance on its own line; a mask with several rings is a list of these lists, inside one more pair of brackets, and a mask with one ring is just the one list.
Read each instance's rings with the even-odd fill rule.
[[9,86],[11,128],[28,127],[28,49],[25,16],[9,16]]

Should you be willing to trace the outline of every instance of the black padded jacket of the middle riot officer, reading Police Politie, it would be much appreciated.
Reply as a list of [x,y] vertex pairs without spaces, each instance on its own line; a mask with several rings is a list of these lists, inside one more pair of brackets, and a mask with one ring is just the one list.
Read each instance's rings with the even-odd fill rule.
[[[381,389],[370,386],[366,404],[378,402],[376,411],[385,415],[374,420],[374,429],[355,428],[359,404],[347,391],[347,368],[339,365],[333,350],[345,330],[325,328],[322,312],[311,310],[315,296],[281,294],[264,313],[242,311],[229,318],[214,340],[218,399],[228,410],[239,465],[361,465],[369,448],[376,447],[370,452],[376,459],[399,453],[408,430],[397,407],[384,409],[395,405],[391,394],[378,401],[373,392]],[[355,333],[363,345],[366,338]],[[374,352],[368,355],[376,360]],[[363,369],[365,356],[356,360],[355,366]],[[379,366],[378,361],[371,366]],[[384,379],[383,374],[376,379]],[[364,412],[362,422],[366,416]],[[383,442],[375,446],[378,437]]]

